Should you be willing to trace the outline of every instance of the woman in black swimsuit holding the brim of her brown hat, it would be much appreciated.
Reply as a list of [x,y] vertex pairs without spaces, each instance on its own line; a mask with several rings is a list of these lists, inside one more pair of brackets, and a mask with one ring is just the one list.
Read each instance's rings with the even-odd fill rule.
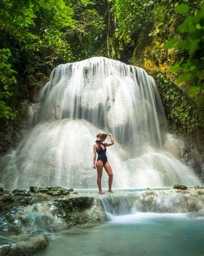
[[[106,139],[107,135],[109,135],[111,137],[111,143],[103,144],[103,141]],[[112,181],[113,181],[113,173],[111,170],[111,166],[108,163],[108,159],[107,159],[105,152],[106,152],[106,147],[109,147],[114,144],[114,139],[113,139],[112,134],[109,132],[107,134],[98,133],[96,135],[96,137],[97,137],[97,139],[95,141],[96,144],[94,144],[94,146],[93,146],[93,168],[94,169],[97,168],[97,173],[98,173],[97,184],[99,187],[99,193],[105,194],[105,192],[102,191],[102,188],[101,188],[101,178],[102,178],[103,167],[109,176],[109,178],[108,178],[108,191],[109,192],[112,192],[111,185],[112,185]],[[97,162],[96,162],[96,152],[98,153]]]

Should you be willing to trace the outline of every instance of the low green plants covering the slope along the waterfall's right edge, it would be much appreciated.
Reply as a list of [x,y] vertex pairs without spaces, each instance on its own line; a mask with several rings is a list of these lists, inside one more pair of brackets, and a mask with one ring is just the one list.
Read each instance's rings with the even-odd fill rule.
[[204,129],[203,109],[197,106],[181,89],[170,82],[164,74],[156,75],[158,89],[170,118],[183,133]]

